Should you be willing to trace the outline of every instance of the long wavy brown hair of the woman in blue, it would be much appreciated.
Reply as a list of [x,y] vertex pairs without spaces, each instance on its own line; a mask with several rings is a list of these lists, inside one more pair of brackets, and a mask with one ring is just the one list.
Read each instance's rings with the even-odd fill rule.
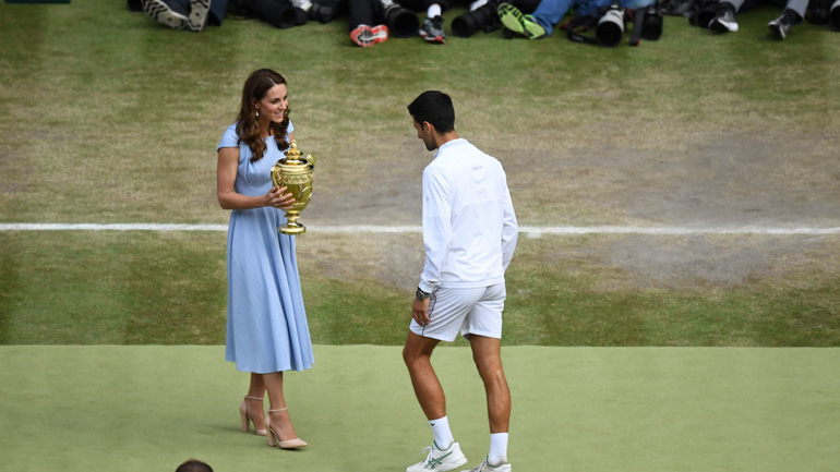
[[[260,101],[265,94],[275,85],[285,84],[286,78],[277,72],[271,69],[260,69],[254,71],[245,80],[245,85],[242,87],[242,104],[239,108],[239,116],[237,117],[237,134],[239,140],[248,144],[251,148],[251,161],[257,161],[265,155],[265,142],[261,135],[260,124],[256,122],[256,110],[254,109],[254,100]],[[283,118],[283,122],[275,123],[274,121],[268,123],[268,133],[274,135],[274,140],[277,142],[277,147],[283,150],[289,147],[289,143],[286,142],[287,130],[289,129],[289,109],[286,109],[286,116]]]

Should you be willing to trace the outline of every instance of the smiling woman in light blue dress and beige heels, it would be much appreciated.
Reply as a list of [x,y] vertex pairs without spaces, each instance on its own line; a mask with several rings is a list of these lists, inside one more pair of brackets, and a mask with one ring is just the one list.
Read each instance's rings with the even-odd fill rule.
[[[272,183],[271,169],[293,138],[286,80],[261,69],[245,81],[237,122],[218,146],[219,205],[228,227],[226,359],[251,373],[239,407],[242,429],[268,437],[269,446],[307,446],[291,424],[283,395],[284,371],[314,362],[303,310],[295,237],[277,231],[293,198]],[[268,415],[263,398],[268,392]]]

